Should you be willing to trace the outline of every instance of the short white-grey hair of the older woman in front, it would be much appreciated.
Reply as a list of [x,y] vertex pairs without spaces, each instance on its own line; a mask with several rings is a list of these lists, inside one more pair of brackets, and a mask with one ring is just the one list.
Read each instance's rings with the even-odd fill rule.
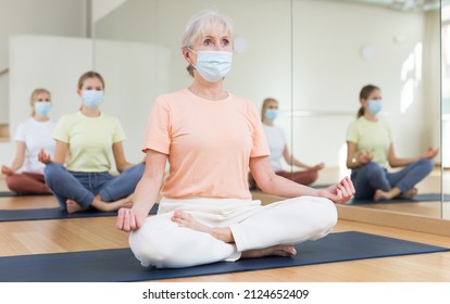
[[[212,29],[223,30],[228,33],[233,41],[234,28],[232,22],[223,15],[212,10],[204,10],[193,15],[186,24],[185,31],[182,38],[182,49],[190,48],[199,38],[208,35]],[[232,43],[233,45],[233,43]],[[193,77],[193,66],[189,64],[186,69],[189,75]]]

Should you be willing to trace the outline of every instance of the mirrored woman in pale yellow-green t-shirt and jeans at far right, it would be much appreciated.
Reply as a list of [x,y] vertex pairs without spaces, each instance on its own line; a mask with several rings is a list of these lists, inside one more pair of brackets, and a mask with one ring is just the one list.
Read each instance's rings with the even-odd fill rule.
[[[398,157],[389,125],[377,117],[382,110],[380,89],[373,85],[363,87],[360,103],[358,119],[347,131],[347,167],[351,169],[354,198],[379,201],[415,197],[414,186],[433,170],[432,159],[438,150],[428,148],[417,157]],[[388,165],[404,168],[389,173]]]

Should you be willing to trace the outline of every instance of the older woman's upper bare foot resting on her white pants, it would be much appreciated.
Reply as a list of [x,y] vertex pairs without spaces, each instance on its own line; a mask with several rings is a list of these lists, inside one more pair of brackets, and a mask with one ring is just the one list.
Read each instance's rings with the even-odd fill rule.
[[179,210],[174,211],[172,220],[178,223],[178,225],[182,227],[187,227],[197,231],[209,233],[217,240],[224,241],[226,243],[235,242],[232,230],[229,228],[211,228],[195,219],[193,216],[187,212]]

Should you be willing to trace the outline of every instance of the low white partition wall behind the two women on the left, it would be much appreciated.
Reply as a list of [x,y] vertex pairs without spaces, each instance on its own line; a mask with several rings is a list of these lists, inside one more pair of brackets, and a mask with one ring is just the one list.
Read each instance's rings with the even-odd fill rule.
[[[10,126],[29,117],[29,94],[37,87],[52,92],[51,117],[59,119],[64,114],[79,109],[76,94],[79,76],[92,69],[100,72],[105,80],[104,113],[118,116],[127,140],[125,153],[129,161],[142,160],[142,126],[147,123],[150,100],[157,96],[157,87],[168,87],[167,51],[142,42],[96,40],[96,50],[101,56],[93,63],[93,41],[87,38],[57,36],[13,36],[10,41]],[[39,51],[29,52],[29,49]],[[154,54],[159,53],[155,61]],[[153,71],[161,71],[154,74]],[[3,163],[12,162],[14,143],[1,143]]]

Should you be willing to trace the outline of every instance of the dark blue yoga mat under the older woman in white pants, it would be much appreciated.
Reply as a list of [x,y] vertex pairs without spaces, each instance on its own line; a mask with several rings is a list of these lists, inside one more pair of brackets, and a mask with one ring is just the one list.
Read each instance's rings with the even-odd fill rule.
[[5,256],[0,257],[0,281],[146,281],[450,251],[355,231],[332,233],[296,248],[295,257],[268,256],[175,269],[145,268],[129,249]]

